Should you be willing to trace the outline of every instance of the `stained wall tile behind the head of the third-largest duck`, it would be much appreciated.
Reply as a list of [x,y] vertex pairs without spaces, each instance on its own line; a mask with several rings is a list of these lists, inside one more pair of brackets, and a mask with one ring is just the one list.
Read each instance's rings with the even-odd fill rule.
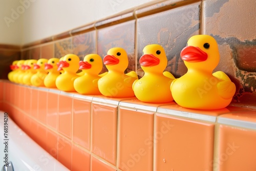
[[[125,30],[125,31],[124,31]],[[123,48],[129,58],[125,73],[135,71],[135,20],[98,30],[97,53],[103,58],[109,49]],[[102,72],[107,71],[103,66]]]

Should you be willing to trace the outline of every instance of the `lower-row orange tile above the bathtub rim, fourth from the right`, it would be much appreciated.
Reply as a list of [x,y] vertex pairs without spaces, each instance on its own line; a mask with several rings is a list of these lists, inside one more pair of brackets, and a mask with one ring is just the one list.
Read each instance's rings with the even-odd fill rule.
[[45,146],[45,149],[46,151],[52,155],[54,158],[57,159],[57,152],[58,152],[58,137],[57,137],[57,134],[52,132],[51,130],[47,130],[47,133],[46,133],[46,146]]

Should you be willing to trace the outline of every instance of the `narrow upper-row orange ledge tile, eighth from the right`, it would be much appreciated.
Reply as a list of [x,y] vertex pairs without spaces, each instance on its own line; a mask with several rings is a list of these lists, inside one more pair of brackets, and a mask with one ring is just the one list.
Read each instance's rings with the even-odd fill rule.
[[38,120],[46,124],[47,114],[47,92],[38,91]]

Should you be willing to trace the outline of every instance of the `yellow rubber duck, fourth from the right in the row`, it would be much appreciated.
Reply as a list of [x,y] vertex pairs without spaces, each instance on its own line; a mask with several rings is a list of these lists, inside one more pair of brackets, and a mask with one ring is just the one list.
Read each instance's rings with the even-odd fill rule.
[[101,94],[98,88],[98,80],[101,78],[102,59],[97,54],[84,56],[83,61],[79,62],[79,69],[83,75],[76,78],[74,88],[80,94]]

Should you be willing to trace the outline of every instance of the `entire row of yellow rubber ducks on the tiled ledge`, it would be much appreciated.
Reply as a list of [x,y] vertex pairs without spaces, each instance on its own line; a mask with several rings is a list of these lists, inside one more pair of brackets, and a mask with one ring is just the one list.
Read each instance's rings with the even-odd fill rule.
[[[163,103],[175,100],[185,108],[213,110],[225,108],[232,100],[236,86],[222,71],[212,73],[220,55],[217,41],[209,35],[189,38],[181,51],[187,73],[175,78],[164,71],[167,58],[160,45],[147,45],[139,59],[144,76],[135,71],[124,74],[129,65],[122,48],[112,48],[103,58],[108,72],[102,70],[102,58],[86,55],[83,61],[74,54],[60,59],[14,61],[8,75],[10,81],[33,86],[57,88],[61,91],[106,97],[133,97],[143,102]],[[77,71],[81,70],[79,74]]]

